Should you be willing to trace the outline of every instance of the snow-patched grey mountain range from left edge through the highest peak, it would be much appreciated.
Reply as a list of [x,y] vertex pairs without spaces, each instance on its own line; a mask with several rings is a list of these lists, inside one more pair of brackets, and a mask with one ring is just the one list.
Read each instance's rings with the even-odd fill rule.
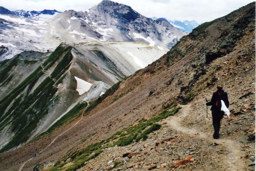
[[46,52],[60,43],[85,41],[142,42],[167,52],[186,34],[166,22],[146,18],[130,6],[108,0],[80,12],[25,12],[0,7],[0,21],[0,61],[24,50]]

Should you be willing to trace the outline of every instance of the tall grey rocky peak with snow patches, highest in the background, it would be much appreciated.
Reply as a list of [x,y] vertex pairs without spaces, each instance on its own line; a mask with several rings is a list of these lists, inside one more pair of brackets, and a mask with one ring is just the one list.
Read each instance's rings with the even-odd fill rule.
[[49,36],[65,42],[134,41],[165,51],[185,34],[165,22],[140,15],[130,6],[109,0],[82,12],[66,11],[50,21],[50,24],[58,28],[58,33]]

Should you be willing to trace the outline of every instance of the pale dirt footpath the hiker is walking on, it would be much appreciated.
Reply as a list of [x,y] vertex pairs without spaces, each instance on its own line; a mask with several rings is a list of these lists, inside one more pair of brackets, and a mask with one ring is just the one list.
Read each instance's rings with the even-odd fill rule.
[[[240,144],[236,140],[230,140],[225,137],[221,137],[218,140],[213,139],[212,134],[206,132],[198,132],[197,130],[186,128],[180,124],[183,118],[189,114],[193,110],[191,105],[182,105],[180,112],[177,115],[171,116],[169,120],[167,120],[167,125],[172,129],[180,132],[180,134],[188,134],[188,136],[192,137],[195,141],[207,144],[222,144],[227,154],[224,158],[218,161],[218,167],[224,167],[228,169],[228,171],[242,171],[246,170],[245,163],[242,161],[241,156],[241,147]],[[211,119],[211,118],[210,118]],[[209,118],[208,118],[209,120]],[[207,122],[207,128],[212,128],[212,122]],[[212,128],[213,129],[213,128]],[[207,150],[207,149],[205,149]],[[220,149],[221,151],[223,149]],[[214,155],[214,154],[213,154]],[[218,155],[218,154],[215,154]],[[225,170],[226,170],[225,169]]]

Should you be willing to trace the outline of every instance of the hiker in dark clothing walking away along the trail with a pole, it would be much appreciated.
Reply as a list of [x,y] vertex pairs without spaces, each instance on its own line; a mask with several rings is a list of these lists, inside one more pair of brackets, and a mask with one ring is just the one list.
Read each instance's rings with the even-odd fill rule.
[[[210,102],[206,102],[206,106],[212,106],[212,125],[214,128],[213,138],[218,139],[220,137],[220,122],[224,116],[224,111],[221,110],[220,100],[224,100],[226,107],[228,108],[228,94],[224,92],[222,85],[217,85],[217,91],[212,94]],[[224,98],[224,99],[223,99]]]

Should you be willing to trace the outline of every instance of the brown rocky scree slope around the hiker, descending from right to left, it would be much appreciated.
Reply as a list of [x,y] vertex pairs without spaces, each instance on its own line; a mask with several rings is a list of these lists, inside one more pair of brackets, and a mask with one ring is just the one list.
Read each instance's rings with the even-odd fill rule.
[[[74,129],[33,157],[23,169],[31,170],[38,163],[57,160],[55,168],[72,168],[84,154],[81,149],[92,142],[101,145],[100,141],[125,126],[149,120],[173,104],[186,104],[177,116],[159,122],[164,128],[149,134],[146,142],[140,140],[125,147],[102,149],[100,153],[94,151],[91,155],[96,157],[94,160],[81,160],[76,168],[214,170],[218,166],[223,170],[253,170],[248,164],[255,155],[254,61],[255,2],[202,24],[152,65],[126,78],[116,89],[113,87],[111,96],[86,112]],[[222,121],[221,138],[215,141],[204,102],[211,97],[216,84],[223,84],[229,93],[232,114],[230,119]],[[50,136],[2,153],[3,170],[18,168],[75,122]],[[140,154],[122,158],[124,153],[131,152]],[[176,164],[186,157],[186,161],[180,162],[183,165]]]

